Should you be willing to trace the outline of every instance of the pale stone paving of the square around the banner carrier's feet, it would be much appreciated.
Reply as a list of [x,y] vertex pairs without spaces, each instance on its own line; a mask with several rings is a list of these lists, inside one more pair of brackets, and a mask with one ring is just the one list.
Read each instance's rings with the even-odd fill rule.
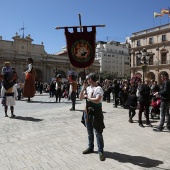
[[[170,170],[170,133],[128,122],[128,110],[103,103],[106,160],[83,155],[87,132],[81,124],[85,101],[76,111],[65,104],[15,119],[0,118],[0,170]],[[158,120],[151,121],[154,126]]]

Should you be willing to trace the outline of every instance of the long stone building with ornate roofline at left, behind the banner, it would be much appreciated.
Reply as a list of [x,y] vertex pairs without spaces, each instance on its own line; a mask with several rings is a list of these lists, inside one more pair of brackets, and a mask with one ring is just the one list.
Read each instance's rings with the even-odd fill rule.
[[33,39],[30,35],[20,37],[18,33],[13,38],[13,41],[3,40],[0,36],[0,68],[4,66],[5,61],[9,61],[12,67],[18,74],[19,80],[24,81],[25,77],[23,71],[26,70],[26,59],[33,58],[33,65],[36,69],[36,81],[50,82],[51,78],[60,73],[64,78],[67,78],[67,72],[74,70],[78,74],[78,78],[84,79],[84,73],[98,72],[100,64],[98,61],[87,69],[77,69],[73,67],[67,55],[66,49],[56,54],[48,54],[43,42],[41,44],[33,44]]

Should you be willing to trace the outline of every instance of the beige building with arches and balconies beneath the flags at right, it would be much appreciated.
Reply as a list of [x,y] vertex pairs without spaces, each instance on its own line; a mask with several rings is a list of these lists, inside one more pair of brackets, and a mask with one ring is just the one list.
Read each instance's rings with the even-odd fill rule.
[[[131,77],[139,75],[161,83],[160,75],[167,72],[170,75],[170,24],[132,33],[131,48]],[[141,66],[138,53],[143,49],[149,53],[149,61]]]

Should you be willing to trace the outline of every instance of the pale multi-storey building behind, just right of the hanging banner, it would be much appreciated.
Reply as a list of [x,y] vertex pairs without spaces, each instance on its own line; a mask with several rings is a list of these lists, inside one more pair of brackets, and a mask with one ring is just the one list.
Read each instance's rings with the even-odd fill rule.
[[96,46],[96,59],[100,61],[100,71],[117,78],[130,77],[130,56],[125,43],[99,41]]

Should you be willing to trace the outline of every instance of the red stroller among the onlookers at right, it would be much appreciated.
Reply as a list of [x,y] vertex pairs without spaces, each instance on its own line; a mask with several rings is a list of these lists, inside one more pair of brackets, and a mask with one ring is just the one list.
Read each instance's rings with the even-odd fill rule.
[[160,105],[161,105],[161,99],[159,96],[154,96],[152,98],[152,102],[150,104],[149,113],[151,115],[151,118],[154,119],[154,117],[157,117],[160,119]]

